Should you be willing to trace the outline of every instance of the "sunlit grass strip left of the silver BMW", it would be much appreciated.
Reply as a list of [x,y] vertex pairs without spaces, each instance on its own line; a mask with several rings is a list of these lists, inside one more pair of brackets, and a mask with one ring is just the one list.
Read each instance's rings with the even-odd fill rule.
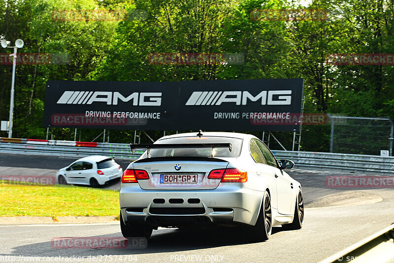
[[0,216],[119,216],[119,191],[0,181]]

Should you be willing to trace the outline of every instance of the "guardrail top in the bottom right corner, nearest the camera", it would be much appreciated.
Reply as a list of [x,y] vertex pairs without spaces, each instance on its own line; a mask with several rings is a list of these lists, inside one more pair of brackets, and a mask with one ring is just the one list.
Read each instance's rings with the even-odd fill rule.
[[394,225],[357,242],[320,263],[394,262]]

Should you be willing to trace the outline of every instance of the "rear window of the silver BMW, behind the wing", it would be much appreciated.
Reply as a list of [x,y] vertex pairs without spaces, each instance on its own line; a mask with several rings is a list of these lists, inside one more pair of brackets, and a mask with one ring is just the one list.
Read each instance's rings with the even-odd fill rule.
[[[211,157],[212,148],[194,149],[193,144],[203,143],[230,143],[232,145],[232,152],[228,147],[215,148],[214,157],[238,157],[241,152],[242,139],[230,137],[214,137],[201,136],[198,137],[178,137],[168,138],[157,142],[157,144],[190,144],[190,149],[151,149],[151,157],[168,157],[168,156],[200,156]],[[144,158],[146,153],[144,154]]]

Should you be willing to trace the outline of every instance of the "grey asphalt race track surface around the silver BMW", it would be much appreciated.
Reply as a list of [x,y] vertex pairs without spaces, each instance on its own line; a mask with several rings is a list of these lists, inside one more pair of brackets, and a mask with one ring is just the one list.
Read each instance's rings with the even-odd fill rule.
[[[0,153],[0,174],[50,174],[73,160]],[[128,165],[117,161],[124,169]],[[245,233],[233,228],[163,228],[154,230],[144,249],[59,249],[52,246],[53,238],[121,237],[120,227],[118,223],[13,225],[0,226],[0,262],[29,261],[20,256],[41,262],[65,262],[65,257],[75,259],[71,262],[319,262],[394,223],[394,188],[334,189],[325,186],[324,178],[349,174],[297,169],[289,174],[303,186],[304,227],[293,231],[274,227],[266,242],[250,242]],[[118,187],[115,182],[105,188]],[[78,257],[85,258],[79,261]]]

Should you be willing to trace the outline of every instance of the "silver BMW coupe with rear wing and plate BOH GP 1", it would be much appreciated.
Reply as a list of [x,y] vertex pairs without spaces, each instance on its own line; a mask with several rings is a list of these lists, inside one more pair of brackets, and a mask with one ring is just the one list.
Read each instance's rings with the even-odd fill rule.
[[266,240],[272,226],[303,225],[301,185],[285,172],[294,162],[277,160],[253,135],[200,131],[130,146],[145,152],[122,176],[126,238],[149,238],[159,226],[239,225]]

